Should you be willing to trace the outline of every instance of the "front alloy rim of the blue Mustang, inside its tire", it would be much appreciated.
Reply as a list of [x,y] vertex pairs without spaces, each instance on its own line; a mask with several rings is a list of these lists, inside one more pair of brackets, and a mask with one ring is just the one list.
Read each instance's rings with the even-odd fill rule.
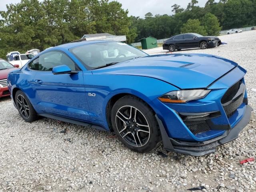
[[150,126],[145,116],[133,106],[122,106],[116,112],[116,127],[120,136],[134,147],[142,147],[150,138]]

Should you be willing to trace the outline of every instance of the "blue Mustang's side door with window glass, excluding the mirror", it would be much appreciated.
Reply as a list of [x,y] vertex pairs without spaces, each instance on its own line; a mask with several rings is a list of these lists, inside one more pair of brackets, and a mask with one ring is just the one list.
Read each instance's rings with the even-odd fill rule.
[[[60,65],[67,65],[78,73],[54,75],[52,68]],[[34,91],[36,108],[40,113],[90,122],[83,72],[66,54],[46,52],[39,56],[38,63],[28,66],[37,70]]]

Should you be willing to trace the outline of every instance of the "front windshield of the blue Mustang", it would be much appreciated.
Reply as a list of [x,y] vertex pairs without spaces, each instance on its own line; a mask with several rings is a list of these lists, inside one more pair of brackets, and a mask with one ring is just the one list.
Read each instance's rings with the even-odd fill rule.
[[121,42],[101,42],[87,44],[70,49],[70,51],[91,70],[110,63],[148,56],[148,54]]

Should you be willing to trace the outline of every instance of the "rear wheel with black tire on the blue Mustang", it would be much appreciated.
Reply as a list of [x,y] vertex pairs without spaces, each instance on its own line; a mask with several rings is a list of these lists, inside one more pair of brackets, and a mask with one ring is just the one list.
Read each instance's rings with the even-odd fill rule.
[[33,122],[38,119],[37,113],[28,100],[28,97],[21,90],[18,90],[15,94],[15,104],[20,116],[26,122]]

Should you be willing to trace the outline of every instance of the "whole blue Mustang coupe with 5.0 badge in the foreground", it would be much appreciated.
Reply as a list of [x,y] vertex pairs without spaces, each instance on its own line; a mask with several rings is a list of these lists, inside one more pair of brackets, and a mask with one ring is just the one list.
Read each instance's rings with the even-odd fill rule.
[[120,42],[49,48],[10,72],[8,88],[26,122],[38,116],[114,131],[128,148],[202,156],[248,124],[244,75],[207,54],[148,54]]

